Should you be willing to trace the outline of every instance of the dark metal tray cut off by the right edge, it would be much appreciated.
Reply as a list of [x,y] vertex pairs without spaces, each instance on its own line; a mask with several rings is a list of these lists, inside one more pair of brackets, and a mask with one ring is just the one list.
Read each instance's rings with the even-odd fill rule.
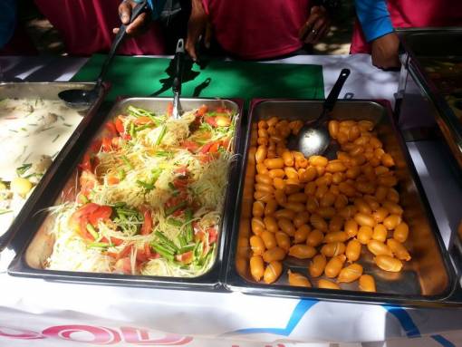
[[462,120],[446,99],[451,88],[443,90],[425,69],[428,58],[462,59],[462,28],[399,29],[398,34],[403,51],[397,102],[399,125],[404,130],[438,125],[462,168]]

